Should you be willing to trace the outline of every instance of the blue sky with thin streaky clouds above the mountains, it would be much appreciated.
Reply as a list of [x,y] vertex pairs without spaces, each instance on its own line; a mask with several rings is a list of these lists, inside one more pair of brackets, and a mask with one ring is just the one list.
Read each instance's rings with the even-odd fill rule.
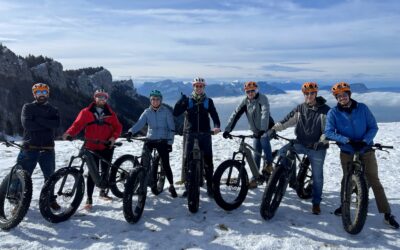
[[134,81],[398,86],[400,1],[3,1],[0,42]]

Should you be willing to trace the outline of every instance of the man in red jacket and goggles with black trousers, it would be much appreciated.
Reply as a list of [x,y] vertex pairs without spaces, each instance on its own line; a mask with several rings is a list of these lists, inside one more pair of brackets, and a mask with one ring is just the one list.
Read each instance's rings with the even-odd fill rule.
[[[64,133],[63,139],[66,140],[75,137],[83,129],[85,130],[86,148],[95,151],[106,160],[111,161],[114,149],[115,140],[120,136],[122,125],[119,122],[117,115],[107,105],[108,94],[104,90],[96,90],[94,93],[94,102],[88,107],[81,110],[78,117],[72,123],[71,127]],[[102,142],[102,143],[98,143]],[[108,142],[108,143],[105,143]],[[107,144],[107,146],[105,145]],[[99,164],[100,160],[94,156],[97,168],[101,165],[101,171],[108,171],[106,164]],[[93,204],[94,182],[90,175],[87,177],[87,200],[85,209],[90,210]],[[107,196],[106,190],[100,191],[100,197],[111,199]]]

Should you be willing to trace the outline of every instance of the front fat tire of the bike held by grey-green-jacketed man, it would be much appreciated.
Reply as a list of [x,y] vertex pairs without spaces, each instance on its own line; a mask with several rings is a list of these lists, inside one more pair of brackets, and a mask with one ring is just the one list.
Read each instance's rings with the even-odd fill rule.
[[[229,171],[229,168],[236,168],[240,176],[231,176],[231,178],[236,178],[240,180],[240,191],[238,196],[232,201],[225,201],[221,194],[221,186],[227,185],[227,183],[221,183],[222,175],[226,170]],[[213,191],[214,191],[214,200],[222,209],[226,211],[232,211],[240,205],[242,205],[243,201],[246,199],[247,192],[249,190],[249,178],[247,176],[246,170],[243,168],[242,172],[240,173],[242,166],[239,161],[235,160],[227,160],[222,162],[218,168],[215,170],[213,176]]]

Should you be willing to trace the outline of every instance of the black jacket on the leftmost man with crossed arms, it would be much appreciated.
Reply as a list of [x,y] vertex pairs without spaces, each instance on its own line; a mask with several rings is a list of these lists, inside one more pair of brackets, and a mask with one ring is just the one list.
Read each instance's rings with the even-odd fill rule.
[[48,102],[26,103],[22,107],[21,122],[24,127],[24,146],[54,147],[55,129],[60,126],[57,108]]

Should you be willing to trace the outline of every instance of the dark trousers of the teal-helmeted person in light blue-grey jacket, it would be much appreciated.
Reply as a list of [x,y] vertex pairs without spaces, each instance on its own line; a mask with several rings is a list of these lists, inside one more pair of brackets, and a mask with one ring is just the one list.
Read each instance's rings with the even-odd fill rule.
[[[171,170],[171,165],[169,164],[169,152],[168,152],[168,143],[167,141],[157,141],[157,142],[152,142],[152,141],[148,141],[143,145],[143,151],[142,151],[142,165],[145,168],[149,168],[150,167],[150,156],[151,153],[153,152],[153,149],[156,149],[158,154],[160,155],[161,161],[162,161],[162,165],[163,165],[163,169],[165,171],[165,175],[167,176],[167,180],[169,182],[170,185],[174,185],[174,177],[172,175],[172,170]],[[157,170],[155,170],[155,172],[153,174],[157,174],[156,172]]]

